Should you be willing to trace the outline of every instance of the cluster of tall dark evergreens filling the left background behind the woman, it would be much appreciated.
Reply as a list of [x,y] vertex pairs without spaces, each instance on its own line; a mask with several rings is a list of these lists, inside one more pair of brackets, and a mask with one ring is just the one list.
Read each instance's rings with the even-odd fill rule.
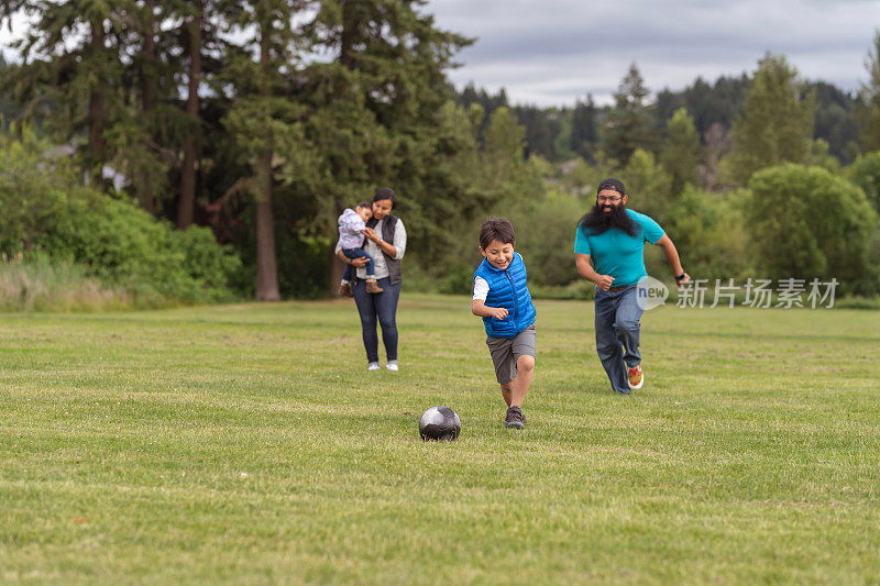
[[[470,41],[421,4],[7,0],[0,19],[32,29],[2,89],[19,121],[76,148],[91,185],[119,174],[151,213],[213,224],[254,267],[256,297],[278,299],[278,224],[297,258],[377,185],[407,195],[428,239],[446,221],[427,203],[472,199],[450,174],[460,129],[437,134],[443,71]],[[314,267],[290,263],[286,292],[308,292],[297,273]]]

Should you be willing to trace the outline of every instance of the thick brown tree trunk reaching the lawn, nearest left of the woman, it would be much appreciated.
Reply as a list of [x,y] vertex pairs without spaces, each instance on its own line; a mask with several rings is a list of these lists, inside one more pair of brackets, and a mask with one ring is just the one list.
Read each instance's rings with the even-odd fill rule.
[[[271,71],[268,30],[271,22],[261,23],[260,65],[263,79],[261,93],[268,97]],[[272,136],[265,137],[266,147],[260,155],[256,169],[256,299],[280,301],[278,267],[275,259],[275,221],[272,213]]]

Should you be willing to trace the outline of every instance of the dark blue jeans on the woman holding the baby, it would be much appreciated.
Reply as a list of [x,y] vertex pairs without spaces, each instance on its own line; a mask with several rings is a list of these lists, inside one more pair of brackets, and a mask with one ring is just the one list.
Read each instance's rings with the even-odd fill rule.
[[381,278],[377,285],[384,290],[381,294],[366,292],[366,281],[355,279],[351,291],[361,314],[361,329],[366,349],[366,362],[378,362],[378,336],[376,318],[382,327],[382,341],[385,343],[385,355],[389,361],[397,360],[397,299],[400,297],[400,285],[392,285],[388,277]]

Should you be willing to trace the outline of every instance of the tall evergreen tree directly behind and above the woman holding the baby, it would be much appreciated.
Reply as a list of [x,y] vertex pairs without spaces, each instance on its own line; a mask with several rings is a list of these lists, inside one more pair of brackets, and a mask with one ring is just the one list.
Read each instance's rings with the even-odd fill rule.
[[[466,190],[450,186],[438,157],[436,132],[452,98],[444,70],[469,40],[439,30],[422,2],[326,0],[308,27],[316,51],[332,56],[307,71],[311,109],[307,131],[323,161],[311,186],[321,202],[323,234],[334,237],[336,215],[345,204],[392,185],[407,213],[410,242],[446,240],[449,218],[440,200]],[[334,262],[330,284],[338,283]]]

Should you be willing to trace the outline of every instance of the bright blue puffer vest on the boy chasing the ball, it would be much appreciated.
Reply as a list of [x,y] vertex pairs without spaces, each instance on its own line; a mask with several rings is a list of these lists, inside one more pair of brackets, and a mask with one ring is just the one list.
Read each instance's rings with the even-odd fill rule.
[[526,285],[526,263],[518,252],[514,253],[514,259],[504,270],[495,268],[485,258],[476,267],[474,277],[482,277],[488,283],[486,306],[507,310],[507,317],[503,320],[483,318],[490,338],[516,338],[535,323],[535,305]]

